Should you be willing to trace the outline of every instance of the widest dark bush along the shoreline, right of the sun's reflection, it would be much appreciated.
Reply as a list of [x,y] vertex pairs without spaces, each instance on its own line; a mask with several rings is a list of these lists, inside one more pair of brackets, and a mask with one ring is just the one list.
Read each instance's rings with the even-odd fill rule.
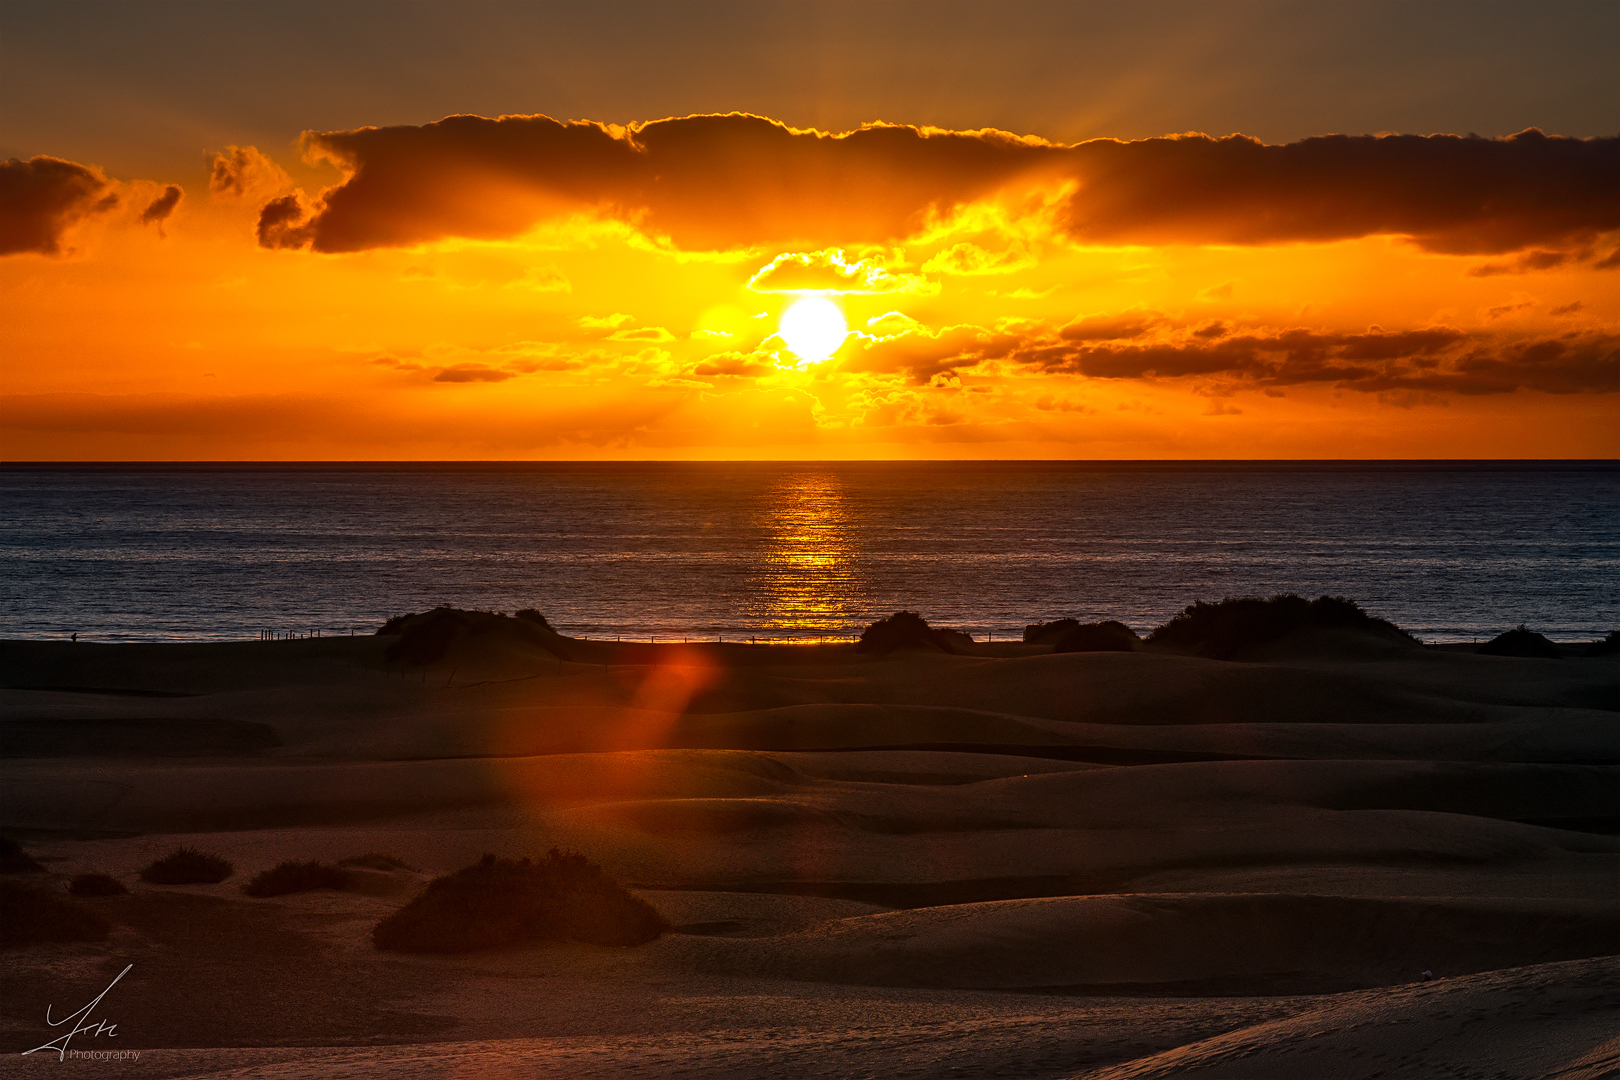
[[1199,656],[1228,659],[1239,649],[1265,644],[1306,628],[1371,630],[1390,640],[1418,643],[1418,638],[1395,623],[1369,615],[1343,596],[1319,596],[1307,601],[1293,593],[1268,601],[1259,597],[1228,597],[1217,604],[1199,601],[1147,635],[1147,640],[1189,649]]

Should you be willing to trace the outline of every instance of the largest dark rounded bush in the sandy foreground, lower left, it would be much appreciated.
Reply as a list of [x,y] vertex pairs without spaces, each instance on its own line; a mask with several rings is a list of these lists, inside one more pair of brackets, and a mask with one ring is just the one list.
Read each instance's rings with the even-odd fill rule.
[[471,952],[531,941],[640,946],[669,929],[646,900],[575,852],[514,861],[484,855],[428,882],[377,923],[371,941],[392,952]]

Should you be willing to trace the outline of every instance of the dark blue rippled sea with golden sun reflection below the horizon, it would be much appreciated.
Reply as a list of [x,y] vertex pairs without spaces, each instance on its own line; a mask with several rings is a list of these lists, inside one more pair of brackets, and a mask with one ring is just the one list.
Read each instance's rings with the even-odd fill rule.
[[400,465],[0,468],[0,636],[371,631],[436,604],[565,633],[1137,630],[1348,596],[1424,640],[1620,625],[1620,468]]

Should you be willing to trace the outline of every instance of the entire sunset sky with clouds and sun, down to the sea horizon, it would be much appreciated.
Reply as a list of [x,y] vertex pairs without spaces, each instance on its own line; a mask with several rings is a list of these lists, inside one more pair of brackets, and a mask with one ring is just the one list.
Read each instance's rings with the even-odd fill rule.
[[1617,47],[1609,0],[6,0],[0,457],[1620,457]]

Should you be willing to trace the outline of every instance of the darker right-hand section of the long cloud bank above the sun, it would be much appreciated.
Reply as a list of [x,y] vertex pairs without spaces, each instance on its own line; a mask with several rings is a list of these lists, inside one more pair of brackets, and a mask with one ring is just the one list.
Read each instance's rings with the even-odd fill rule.
[[1069,230],[1118,243],[1409,236],[1453,254],[1571,244],[1620,227],[1620,138],[1246,136],[1084,142]]

